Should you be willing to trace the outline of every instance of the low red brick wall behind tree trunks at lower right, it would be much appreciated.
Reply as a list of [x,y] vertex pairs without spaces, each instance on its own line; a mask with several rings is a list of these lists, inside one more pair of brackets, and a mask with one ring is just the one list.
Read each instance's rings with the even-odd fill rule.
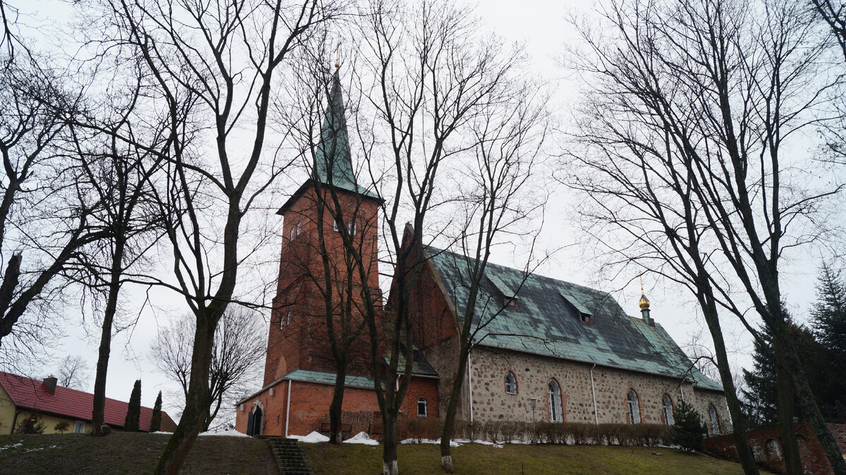
[[[829,423],[828,429],[832,431],[834,439],[837,440],[841,452],[846,452],[846,424]],[[807,421],[795,423],[796,439],[799,442],[799,459],[802,462],[803,473],[832,473],[832,467],[828,463],[826,453],[816,440],[814,429],[811,429]],[[755,453],[755,461],[771,468],[777,472],[784,472],[784,450],[781,445],[781,438],[777,427],[766,429],[755,429],[746,432],[749,438],[749,445]],[[767,440],[777,442],[780,457],[772,450],[766,450]],[[737,450],[734,447],[734,439],[731,434],[718,435],[705,440],[707,450],[716,453],[728,460],[738,460]]]

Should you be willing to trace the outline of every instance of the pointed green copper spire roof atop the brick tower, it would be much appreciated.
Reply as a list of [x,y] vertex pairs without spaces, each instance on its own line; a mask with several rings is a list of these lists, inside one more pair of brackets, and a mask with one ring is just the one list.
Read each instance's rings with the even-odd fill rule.
[[370,198],[379,198],[355,181],[353,161],[349,152],[347,120],[344,116],[343,90],[337,69],[332,76],[332,91],[329,93],[329,103],[323,117],[315,159],[312,178],[316,181]]

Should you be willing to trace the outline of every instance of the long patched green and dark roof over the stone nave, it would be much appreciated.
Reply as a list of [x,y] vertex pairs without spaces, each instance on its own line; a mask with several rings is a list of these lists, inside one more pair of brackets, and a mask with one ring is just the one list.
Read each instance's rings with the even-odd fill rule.
[[[456,310],[464,314],[468,258],[436,248],[427,252]],[[517,305],[503,308],[514,295]],[[581,314],[591,315],[591,323],[583,323]],[[491,322],[476,337],[487,347],[685,378],[700,388],[722,390],[691,368],[661,325],[629,317],[607,292],[489,263],[475,308],[475,325],[480,321]]]

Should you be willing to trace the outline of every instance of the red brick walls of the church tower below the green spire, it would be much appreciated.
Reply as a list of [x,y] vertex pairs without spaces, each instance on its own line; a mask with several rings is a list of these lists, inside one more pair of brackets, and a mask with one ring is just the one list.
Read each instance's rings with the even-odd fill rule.
[[[331,202],[328,191],[324,190],[324,193],[327,201]],[[283,243],[277,295],[273,299],[274,309],[267,336],[265,385],[295,369],[334,371],[335,363],[326,330],[327,310],[324,292],[321,292],[321,288],[326,288],[326,282],[317,232],[316,197],[315,188],[307,188],[304,194],[292,199],[283,212]],[[360,253],[369,266],[366,285],[378,292],[378,206],[370,199],[358,202],[356,195],[347,193],[339,194],[338,201],[344,218],[354,219],[356,223],[353,238],[359,240]],[[345,289],[338,283],[349,275],[349,267],[345,264],[346,250],[341,235],[333,230],[333,223],[332,215],[326,210],[322,222],[323,243],[330,260],[333,300],[339,308],[345,300]],[[361,279],[357,270],[352,274],[352,281],[353,307],[360,307]],[[289,313],[291,325],[281,325]],[[369,374],[367,347],[363,337],[354,343],[348,369],[350,374]]]

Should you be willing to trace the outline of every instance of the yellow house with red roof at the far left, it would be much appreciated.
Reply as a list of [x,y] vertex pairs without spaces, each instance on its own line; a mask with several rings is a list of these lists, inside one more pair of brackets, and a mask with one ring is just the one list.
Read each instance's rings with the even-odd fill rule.
[[[14,430],[26,418],[41,418],[46,429],[44,434],[53,434],[57,423],[66,422],[69,432],[91,432],[91,412],[94,409],[94,395],[56,385],[56,378],[25,378],[17,374],[0,372],[0,434],[14,434]],[[124,418],[129,404],[106,398],[106,423],[113,429],[124,427]],[[153,410],[141,407],[140,429],[150,429]],[[159,430],[173,432],[176,423],[162,411],[162,425]]]

